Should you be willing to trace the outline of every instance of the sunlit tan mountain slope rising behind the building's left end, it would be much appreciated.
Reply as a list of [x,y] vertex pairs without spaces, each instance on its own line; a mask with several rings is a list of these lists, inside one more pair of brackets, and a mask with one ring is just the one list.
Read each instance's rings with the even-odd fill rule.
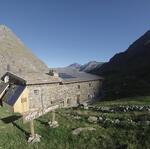
[[5,25],[0,25],[0,76],[11,72],[48,72],[22,41]]

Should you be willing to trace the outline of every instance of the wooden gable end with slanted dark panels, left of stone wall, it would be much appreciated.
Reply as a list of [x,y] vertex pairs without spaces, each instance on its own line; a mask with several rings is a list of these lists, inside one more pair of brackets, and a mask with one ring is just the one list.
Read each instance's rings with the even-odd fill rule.
[[0,100],[8,104],[13,112],[29,111],[28,90],[26,81],[15,74],[7,72],[1,78]]

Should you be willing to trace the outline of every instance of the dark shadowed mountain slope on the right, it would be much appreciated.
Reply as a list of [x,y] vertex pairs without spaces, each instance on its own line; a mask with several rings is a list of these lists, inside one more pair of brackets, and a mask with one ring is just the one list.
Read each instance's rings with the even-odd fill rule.
[[150,94],[150,31],[137,39],[125,52],[118,53],[91,73],[105,78],[108,98]]

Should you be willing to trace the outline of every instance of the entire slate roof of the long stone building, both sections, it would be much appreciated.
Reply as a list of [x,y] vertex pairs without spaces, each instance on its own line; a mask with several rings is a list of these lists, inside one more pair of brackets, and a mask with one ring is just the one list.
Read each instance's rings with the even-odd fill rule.
[[[103,80],[103,78],[100,76],[89,74],[86,72],[81,72],[73,68],[55,68],[53,70],[55,70],[59,74],[59,77],[50,76],[44,72],[28,72],[16,74],[7,72],[6,74],[18,79],[19,81],[22,81],[23,84],[26,85]],[[2,77],[3,80],[4,76]]]

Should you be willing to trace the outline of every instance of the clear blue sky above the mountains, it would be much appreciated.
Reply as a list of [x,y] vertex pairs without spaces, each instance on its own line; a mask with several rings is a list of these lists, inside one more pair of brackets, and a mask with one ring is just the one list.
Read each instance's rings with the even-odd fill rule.
[[10,27],[49,67],[108,61],[150,28],[149,0],[0,0]]

